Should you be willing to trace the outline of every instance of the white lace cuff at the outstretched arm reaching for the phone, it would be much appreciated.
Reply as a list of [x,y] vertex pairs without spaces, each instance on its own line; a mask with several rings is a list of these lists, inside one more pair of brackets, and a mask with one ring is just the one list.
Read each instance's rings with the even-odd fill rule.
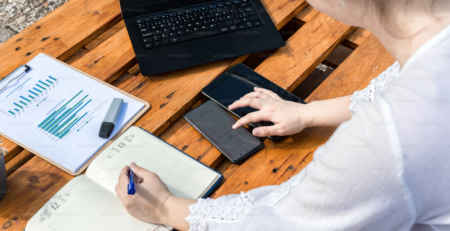
[[356,102],[358,101],[365,100],[367,102],[372,102],[375,98],[375,92],[385,88],[389,82],[397,77],[398,74],[400,74],[400,63],[395,62],[378,77],[370,81],[370,84],[367,88],[353,93],[353,96],[350,98],[350,101],[352,103],[349,110],[354,112]]

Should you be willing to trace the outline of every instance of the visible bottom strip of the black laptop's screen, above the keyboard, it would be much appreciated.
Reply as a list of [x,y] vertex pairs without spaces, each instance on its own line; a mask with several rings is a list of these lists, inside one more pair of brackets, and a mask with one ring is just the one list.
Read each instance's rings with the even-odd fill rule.
[[122,15],[124,18],[166,12],[177,8],[195,6],[210,2],[211,4],[221,2],[220,0],[120,0]]

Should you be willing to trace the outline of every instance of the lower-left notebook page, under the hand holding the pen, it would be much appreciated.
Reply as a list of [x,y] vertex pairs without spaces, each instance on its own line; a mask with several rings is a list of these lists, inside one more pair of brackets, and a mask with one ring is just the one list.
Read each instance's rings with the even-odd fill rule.
[[28,222],[26,231],[168,231],[135,219],[113,193],[85,175],[67,183]]

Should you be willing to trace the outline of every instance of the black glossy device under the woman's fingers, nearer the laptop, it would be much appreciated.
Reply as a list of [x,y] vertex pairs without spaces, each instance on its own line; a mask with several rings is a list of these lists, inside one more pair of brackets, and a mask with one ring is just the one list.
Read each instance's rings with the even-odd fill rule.
[[[244,64],[236,64],[230,70],[220,75],[217,79],[203,88],[202,93],[220,106],[228,110],[235,101],[244,95],[253,92],[255,87],[264,88],[278,94],[282,99],[301,104],[306,104],[303,100],[284,90],[272,81],[264,78]],[[228,110],[230,111],[230,110]],[[238,118],[242,118],[248,113],[257,111],[251,107],[238,108],[230,111]],[[252,127],[271,126],[272,122],[261,121],[256,124],[250,124]],[[269,139],[278,140],[280,137],[271,136]]]

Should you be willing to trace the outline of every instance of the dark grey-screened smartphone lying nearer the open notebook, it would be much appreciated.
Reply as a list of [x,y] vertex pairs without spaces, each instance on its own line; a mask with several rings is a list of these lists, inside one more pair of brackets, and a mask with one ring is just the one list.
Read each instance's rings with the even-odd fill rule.
[[211,100],[186,113],[184,119],[233,164],[263,147],[262,142],[244,127],[233,129],[236,119]]

